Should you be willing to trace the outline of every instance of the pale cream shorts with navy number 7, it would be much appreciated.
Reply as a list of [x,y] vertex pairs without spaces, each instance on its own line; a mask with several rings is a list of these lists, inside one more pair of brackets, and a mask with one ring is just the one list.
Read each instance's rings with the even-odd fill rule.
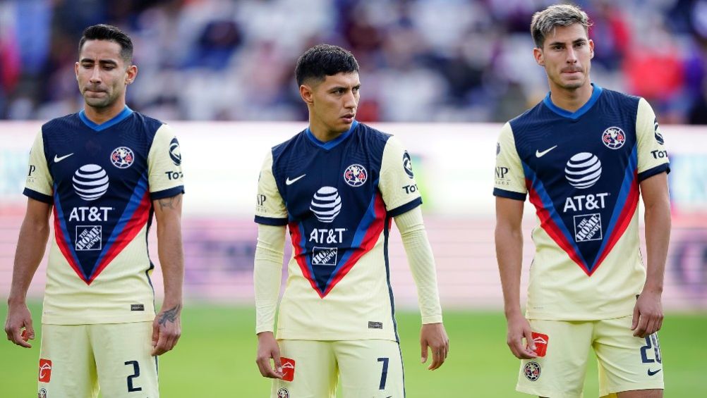
[[284,371],[292,381],[274,380],[274,398],[402,398],[405,394],[400,346],[391,340],[278,340]]

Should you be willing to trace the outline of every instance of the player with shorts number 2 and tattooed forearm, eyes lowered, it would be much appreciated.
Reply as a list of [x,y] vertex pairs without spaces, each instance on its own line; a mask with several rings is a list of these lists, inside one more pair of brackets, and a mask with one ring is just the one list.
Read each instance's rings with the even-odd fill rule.
[[[39,397],[158,397],[157,357],[180,337],[182,157],[172,129],[125,105],[137,76],[130,38],[83,31],[74,70],[85,105],[42,126],[30,152],[5,324],[30,348],[25,296],[49,249]],[[165,298],[155,315],[147,233],[157,219]],[[99,387],[100,385],[100,387]]]

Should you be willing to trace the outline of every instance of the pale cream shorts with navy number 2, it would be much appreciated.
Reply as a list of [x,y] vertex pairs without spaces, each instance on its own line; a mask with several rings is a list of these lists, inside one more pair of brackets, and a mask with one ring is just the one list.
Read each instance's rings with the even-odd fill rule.
[[152,322],[42,325],[38,396],[158,398],[151,351]]

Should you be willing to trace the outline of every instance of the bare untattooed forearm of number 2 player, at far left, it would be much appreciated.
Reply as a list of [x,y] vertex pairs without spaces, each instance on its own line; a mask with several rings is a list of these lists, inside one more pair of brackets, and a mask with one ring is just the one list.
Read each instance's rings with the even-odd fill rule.
[[8,303],[25,302],[32,278],[44,257],[47,239],[49,239],[47,220],[25,218],[17,241]]

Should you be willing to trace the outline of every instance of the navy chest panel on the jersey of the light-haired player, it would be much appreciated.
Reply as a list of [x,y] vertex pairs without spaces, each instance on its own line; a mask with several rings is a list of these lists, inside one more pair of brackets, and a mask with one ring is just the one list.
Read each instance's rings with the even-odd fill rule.
[[576,119],[540,103],[510,122],[531,201],[547,212],[544,228],[588,274],[637,190],[637,111],[638,97],[603,90]]

